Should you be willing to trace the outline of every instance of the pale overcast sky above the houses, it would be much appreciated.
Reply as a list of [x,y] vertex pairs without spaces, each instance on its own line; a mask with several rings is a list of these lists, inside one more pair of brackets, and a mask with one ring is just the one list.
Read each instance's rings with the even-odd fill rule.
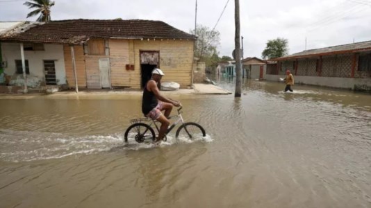
[[[0,0],[0,21],[23,21],[25,1]],[[151,19],[187,33],[195,0],[55,0],[51,19]],[[108,3],[109,2],[109,3]],[[228,2],[228,3],[227,3]],[[222,11],[226,6],[220,21]],[[197,0],[197,24],[220,32],[220,56],[234,49],[234,0]],[[36,17],[27,20],[35,21]],[[261,58],[267,40],[288,39],[289,53],[371,40],[371,0],[240,0],[244,57]]]

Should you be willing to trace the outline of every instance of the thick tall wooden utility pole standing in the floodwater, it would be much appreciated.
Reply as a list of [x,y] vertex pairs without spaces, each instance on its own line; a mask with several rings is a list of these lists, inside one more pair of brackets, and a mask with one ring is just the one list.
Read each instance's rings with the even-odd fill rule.
[[234,36],[235,55],[236,55],[236,91],[235,98],[241,97],[242,77],[241,77],[241,48],[240,48],[240,0],[234,0],[234,20],[236,33]]

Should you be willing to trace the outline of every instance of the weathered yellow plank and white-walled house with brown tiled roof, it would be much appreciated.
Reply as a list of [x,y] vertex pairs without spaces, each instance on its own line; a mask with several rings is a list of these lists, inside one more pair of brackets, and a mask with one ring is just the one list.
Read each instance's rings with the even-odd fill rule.
[[72,19],[0,35],[6,74],[15,85],[140,89],[152,69],[163,81],[192,85],[195,35],[163,21]]

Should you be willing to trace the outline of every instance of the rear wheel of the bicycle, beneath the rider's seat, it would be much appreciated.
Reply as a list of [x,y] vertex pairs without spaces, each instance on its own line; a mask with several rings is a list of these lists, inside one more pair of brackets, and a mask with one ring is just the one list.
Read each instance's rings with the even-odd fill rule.
[[145,123],[134,123],[126,129],[126,132],[124,134],[125,142],[128,142],[131,139],[142,143],[146,139],[154,141],[156,139],[156,135],[154,129],[151,128],[151,126]]

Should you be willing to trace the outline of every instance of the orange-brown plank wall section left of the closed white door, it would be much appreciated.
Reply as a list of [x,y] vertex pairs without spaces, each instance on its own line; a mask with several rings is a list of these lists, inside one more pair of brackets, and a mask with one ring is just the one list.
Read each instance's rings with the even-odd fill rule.
[[[65,44],[63,46],[63,53],[65,56],[67,83],[69,87],[75,87],[74,70],[72,67],[72,55],[69,45]],[[74,53],[76,62],[77,85],[79,87],[86,87],[85,57],[83,53],[83,46],[74,46]]]

